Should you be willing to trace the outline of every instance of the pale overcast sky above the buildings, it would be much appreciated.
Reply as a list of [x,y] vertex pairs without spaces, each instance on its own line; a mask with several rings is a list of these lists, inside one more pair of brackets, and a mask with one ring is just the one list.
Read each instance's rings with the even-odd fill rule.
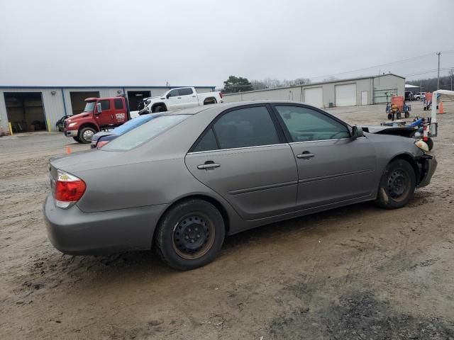
[[408,76],[436,69],[437,51],[454,67],[453,13],[453,0],[0,0],[0,85]]

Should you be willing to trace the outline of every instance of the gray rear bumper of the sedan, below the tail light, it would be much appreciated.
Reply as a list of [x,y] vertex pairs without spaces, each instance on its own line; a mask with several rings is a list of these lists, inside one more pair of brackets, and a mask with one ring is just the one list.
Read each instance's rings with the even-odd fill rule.
[[50,242],[65,254],[108,254],[150,249],[153,233],[167,205],[83,212],[55,206],[51,195],[43,205]]

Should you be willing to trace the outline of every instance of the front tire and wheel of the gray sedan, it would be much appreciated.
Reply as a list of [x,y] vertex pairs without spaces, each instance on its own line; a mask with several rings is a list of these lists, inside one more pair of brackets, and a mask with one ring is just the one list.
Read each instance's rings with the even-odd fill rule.
[[402,208],[413,197],[415,187],[413,167],[404,159],[396,159],[384,169],[375,202],[385,209]]

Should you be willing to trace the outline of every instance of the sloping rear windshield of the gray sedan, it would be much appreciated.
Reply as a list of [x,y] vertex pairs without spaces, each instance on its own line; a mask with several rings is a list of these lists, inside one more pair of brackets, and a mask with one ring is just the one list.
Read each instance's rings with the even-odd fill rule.
[[162,115],[138,126],[105,145],[104,151],[126,151],[152,140],[161,132],[172,128],[188,118],[189,115]]

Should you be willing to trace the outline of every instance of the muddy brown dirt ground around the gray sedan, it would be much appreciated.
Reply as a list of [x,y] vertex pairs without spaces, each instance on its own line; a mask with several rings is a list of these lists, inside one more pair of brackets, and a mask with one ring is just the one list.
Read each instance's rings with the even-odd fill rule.
[[[59,133],[0,138],[0,339],[454,339],[454,102],[445,111],[436,174],[406,208],[260,227],[184,273],[151,251],[54,249],[41,212],[48,159],[89,147]],[[385,120],[384,106],[331,112]]]

